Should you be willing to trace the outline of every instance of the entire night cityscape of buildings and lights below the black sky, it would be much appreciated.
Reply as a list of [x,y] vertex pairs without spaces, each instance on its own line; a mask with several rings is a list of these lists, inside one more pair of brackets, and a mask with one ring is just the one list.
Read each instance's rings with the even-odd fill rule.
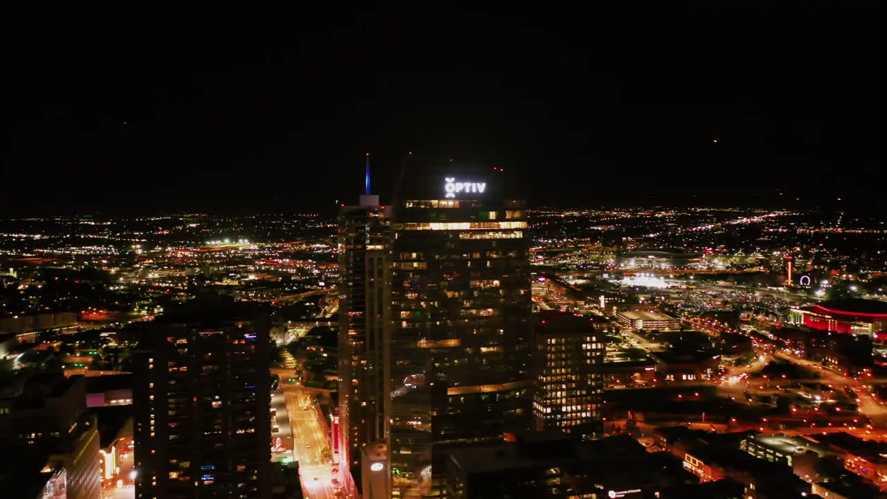
[[[498,202],[498,170],[437,166],[397,206],[355,195],[337,217],[9,220],[0,425],[33,459],[0,484],[237,496],[256,470],[287,499],[879,496],[883,219],[528,214]],[[81,452],[52,415],[84,406]]]

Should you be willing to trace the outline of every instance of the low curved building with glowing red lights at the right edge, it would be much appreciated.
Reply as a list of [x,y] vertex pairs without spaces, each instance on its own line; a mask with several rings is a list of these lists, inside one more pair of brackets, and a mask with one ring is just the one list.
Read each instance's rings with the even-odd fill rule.
[[789,321],[812,329],[887,339],[887,302],[846,298],[791,309]]

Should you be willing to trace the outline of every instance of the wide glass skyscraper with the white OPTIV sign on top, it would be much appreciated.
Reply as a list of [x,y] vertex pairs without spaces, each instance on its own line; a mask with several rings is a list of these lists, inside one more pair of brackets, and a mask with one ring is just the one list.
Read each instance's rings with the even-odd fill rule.
[[399,193],[386,334],[392,497],[436,495],[447,446],[530,427],[527,221],[497,170],[417,168]]

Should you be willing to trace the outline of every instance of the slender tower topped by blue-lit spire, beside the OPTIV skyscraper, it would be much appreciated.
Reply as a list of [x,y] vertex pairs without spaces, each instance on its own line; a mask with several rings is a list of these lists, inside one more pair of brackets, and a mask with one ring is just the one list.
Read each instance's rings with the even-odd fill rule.
[[[367,189],[369,173],[367,172]],[[338,456],[361,483],[361,448],[384,439],[384,324],[389,316],[389,218],[379,196],[360,196],[339,217],[339,414],[344,445]]]

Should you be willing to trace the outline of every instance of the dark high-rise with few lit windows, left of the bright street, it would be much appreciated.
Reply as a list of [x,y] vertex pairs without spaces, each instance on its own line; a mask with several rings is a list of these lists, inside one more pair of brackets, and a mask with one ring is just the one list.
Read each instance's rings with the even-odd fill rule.
[[233,305],[145,331],[133,389],[137,499],[271,495],[269,327]]

